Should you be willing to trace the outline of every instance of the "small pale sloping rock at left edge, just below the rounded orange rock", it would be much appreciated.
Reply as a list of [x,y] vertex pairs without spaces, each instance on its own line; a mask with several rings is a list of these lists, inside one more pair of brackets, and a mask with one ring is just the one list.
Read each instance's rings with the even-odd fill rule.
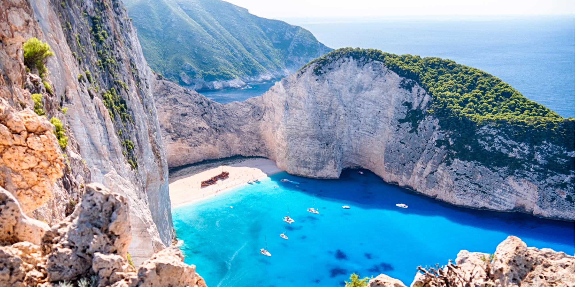
[[26,216],[16,197],[0,187],[0,244],[22,241],[40,244],[48,224]]

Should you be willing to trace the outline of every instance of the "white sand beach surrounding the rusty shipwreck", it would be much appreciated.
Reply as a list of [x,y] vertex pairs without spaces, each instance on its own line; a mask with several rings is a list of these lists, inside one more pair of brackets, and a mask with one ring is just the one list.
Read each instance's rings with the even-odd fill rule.
[[[217,184],[201,187],[200,182],[208,180],[222,172],[229,172],[225,180],[218,179]],[[254,158],[231,165],[220,165],[197,174],[188,174],[170,179],[170,200],[172,207],[200,201],[216,196],[225,189],[246,183],[251,179],[266,177],[268,174],[283,172],[275,161],[266,158]]]

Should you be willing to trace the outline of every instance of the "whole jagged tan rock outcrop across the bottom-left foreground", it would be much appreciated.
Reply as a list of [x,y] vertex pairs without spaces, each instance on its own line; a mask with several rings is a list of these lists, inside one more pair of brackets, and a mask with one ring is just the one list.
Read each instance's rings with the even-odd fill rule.
[[[0,191],[0,195],[10,195]],[[21,214],[2,210],[2,220]],[[176,247],[163,249],[136,270],[128,261],[131,240],[127,199],[101,184],[88,184],[72,215],[43,235],[41,245],[21,241],[0,247],[0,286],[56,286],[84,282],[84,286],[205,287],[194,265],[183,263]],[[28,230],[36,227],[34,219]],[[3,222],[2,222],[3,223]],[[5,242],[6,243],[6,242]]]

